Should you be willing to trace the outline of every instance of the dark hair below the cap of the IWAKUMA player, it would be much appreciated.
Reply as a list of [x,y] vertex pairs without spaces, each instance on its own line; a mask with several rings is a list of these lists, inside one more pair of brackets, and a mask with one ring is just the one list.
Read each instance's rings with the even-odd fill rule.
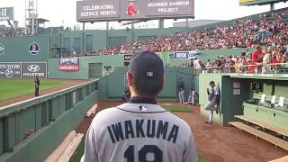
[[142,96],[156,96],[163,89],[163,78],[143,79],[134,77],[133,87]]

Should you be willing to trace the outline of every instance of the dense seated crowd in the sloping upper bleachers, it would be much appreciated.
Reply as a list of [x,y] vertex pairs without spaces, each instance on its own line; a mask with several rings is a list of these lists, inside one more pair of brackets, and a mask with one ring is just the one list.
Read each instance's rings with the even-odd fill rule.
[[215,29],[175,32],[172,36],[159,36],[134,43],[115,44],[93,55],[116,55],[136,50],[184,51],[201,49],[250,48],[263,46],[285,46],[288,35],[288,11],[262,14],[257,19],[243,18],[231,24],[220,24]]

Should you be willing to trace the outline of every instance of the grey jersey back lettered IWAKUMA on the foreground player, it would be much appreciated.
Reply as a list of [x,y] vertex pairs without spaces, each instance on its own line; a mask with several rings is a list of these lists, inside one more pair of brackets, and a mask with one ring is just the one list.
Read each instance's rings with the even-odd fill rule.
[[157,104],[124,103],[95,116],[82,160],[193,162],[197,156],[185,121]]

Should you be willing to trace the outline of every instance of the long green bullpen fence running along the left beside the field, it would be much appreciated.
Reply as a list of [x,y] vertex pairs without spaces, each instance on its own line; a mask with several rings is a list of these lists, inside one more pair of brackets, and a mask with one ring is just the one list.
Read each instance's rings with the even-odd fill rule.
[[94,80],[0,107],[0,161],[44,161],[97,98]]

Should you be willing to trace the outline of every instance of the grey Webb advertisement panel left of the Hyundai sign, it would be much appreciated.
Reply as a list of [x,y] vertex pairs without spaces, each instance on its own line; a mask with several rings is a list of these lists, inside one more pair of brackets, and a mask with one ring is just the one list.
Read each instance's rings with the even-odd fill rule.
[[1,63],[0,77],[2,78],[21,78],[21,63]]

